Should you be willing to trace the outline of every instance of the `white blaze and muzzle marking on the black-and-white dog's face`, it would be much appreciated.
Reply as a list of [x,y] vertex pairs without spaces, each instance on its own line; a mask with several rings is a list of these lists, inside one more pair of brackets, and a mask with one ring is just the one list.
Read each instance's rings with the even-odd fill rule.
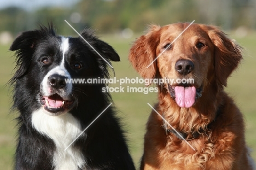
[[[44,77],[42,83],[41,83],[41,92],[43,93],[43,96],[49,96],[51,95],[50,87],[48,86],[48,78],[51,75],[58,74],[62,75],[63,77],[66,77],[67,79],[71,79],[71,75],[68,73],[67,69],[64,66],[65,63],[65,54],[69,49],[69,43],[68,38],[62,37],[61,44],[60,44],[60,50],[62,53],[62,58],[59,66],[56,66],[55,68],[51,69]],[[57,56],[56,56],[57,57]],[[70,94],[72,91],[72,84],[68,83],[65,87],[65,91],[67,94]]]

